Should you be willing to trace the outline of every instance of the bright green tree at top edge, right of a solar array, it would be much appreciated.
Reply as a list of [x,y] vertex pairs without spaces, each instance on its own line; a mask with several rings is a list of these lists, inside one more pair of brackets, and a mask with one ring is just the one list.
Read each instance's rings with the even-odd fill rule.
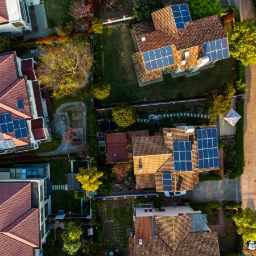
[[188,6],[193,20],[214,14],[220,16],[223,11],[220,0],[189,0]]

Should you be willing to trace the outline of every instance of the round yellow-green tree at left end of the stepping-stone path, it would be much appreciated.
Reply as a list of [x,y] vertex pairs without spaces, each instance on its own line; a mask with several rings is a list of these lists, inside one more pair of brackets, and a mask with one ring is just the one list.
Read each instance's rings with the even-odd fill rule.
[[136,121],[136,110],[133,108],[133,106],[123,103],[115,106],[112,115],[114,122],[119,127],[128,127]]

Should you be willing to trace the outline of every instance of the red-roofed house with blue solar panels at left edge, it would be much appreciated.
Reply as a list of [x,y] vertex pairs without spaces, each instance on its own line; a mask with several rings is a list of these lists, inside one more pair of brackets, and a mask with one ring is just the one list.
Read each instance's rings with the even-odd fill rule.
[[0,55],[0,154],[38,148],[51,136],[34,60]]

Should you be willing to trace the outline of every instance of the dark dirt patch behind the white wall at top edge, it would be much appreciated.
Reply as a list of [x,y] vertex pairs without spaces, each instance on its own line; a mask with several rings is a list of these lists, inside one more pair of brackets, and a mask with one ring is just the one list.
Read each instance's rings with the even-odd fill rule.
[[105,0],[98,3],[98,13],[101,19],[111,19],[122,17],[123,15],[131,15],[133,12],[133,0],[120,0],[117,8],[110,8],[106,5]]

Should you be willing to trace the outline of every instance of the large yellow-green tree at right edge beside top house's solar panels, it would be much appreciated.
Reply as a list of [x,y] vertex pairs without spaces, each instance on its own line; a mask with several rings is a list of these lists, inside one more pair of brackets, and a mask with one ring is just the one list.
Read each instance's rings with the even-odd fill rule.
[[256,20],[244,19],[228,32],[229,51],[244,66],[256,63]]

